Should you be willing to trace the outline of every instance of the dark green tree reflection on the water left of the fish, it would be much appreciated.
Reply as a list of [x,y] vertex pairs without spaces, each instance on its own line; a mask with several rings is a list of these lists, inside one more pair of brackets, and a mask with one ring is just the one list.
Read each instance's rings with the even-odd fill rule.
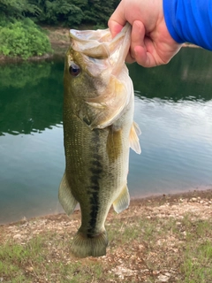
[[62,121],[63,61],[0,66],[0,135],[41,132]]

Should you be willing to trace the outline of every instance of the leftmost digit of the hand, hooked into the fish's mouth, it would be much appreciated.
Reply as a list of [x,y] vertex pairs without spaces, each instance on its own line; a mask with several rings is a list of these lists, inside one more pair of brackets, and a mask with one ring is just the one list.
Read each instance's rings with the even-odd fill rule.
[[122,28],[125,26],[126,19],[125,19],[125,12],[123,7],[123,2],[117,6],[117,9],[111,15],[108,26],[110,28],[110,33],[112,37],[116,36]]

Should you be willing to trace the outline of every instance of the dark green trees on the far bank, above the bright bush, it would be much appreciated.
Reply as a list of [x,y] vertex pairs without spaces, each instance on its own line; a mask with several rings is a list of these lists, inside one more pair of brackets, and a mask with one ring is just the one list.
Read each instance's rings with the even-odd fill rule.
[[0,0],[0,17],[30,18],[42,25],[107,26],[119,0]]

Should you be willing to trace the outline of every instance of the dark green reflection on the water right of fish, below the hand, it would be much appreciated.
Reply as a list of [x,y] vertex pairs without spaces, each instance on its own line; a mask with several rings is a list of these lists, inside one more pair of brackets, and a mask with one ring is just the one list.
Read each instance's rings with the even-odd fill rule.
[[212,53],[207,50],[184,48],[168,65],[128,68],[136,96],[174,102],[212,99]]

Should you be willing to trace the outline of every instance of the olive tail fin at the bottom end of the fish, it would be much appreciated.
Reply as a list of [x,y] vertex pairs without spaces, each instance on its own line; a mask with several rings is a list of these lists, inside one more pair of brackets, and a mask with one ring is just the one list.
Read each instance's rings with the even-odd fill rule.
[[105,230],[94,237],[87,237],[87,235],[78,231],[73,238],[71,252],[72,256],[80,258],[105,256],[107,246],[108,237]]

